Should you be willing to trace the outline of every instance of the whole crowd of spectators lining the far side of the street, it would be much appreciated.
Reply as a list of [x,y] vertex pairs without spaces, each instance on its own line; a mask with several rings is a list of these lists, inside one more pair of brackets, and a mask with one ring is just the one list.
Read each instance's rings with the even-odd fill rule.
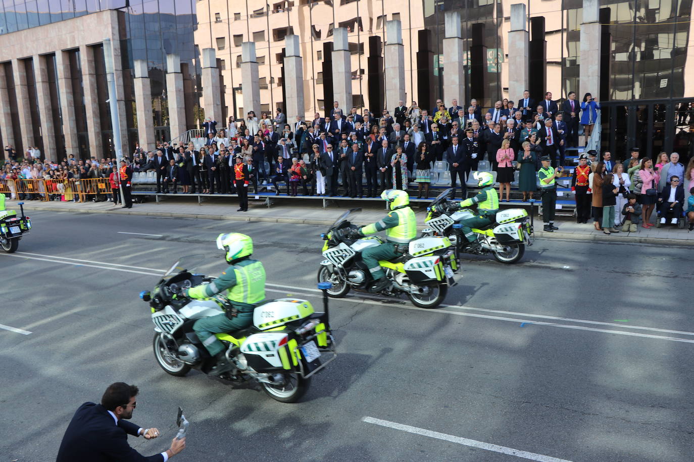
[[[548,91],[538,103],[524,91],[517,102],[499,100],[486,111],[474,98],[466,107],[455,99],[447,107],[439,99],[432,109],[400,101],[392,114],[389,109],[380,114],[342,109],[335,101],[324,116],[294,121],[287,121],[282,109],[260,118],[250,111],[219,128],[217,121],[205,119],[203,146],[164,142],[151,151],[137,146],[129,161],[133,172],[155,172],[158,193],[178,193],[180,186],[184,194],[235,194],[241,175],[244,193],[268,188],[279,195],[284,188],[287,195],[341,192],[344,197],[378,197],[388,188],[408,190],[413,182],[417,196],[428,197],[437,161],[450,171],[453,197],[458,183],[465,196],[468,175],[486,161],[497,172],[500,200],[511,200],[511,183],[517,179],[525,201],[536,194],[541,157],[550,157],[553,167],[564,166],[566,149],[579,145],[579,132],[590,136],[593,131],[600,105],[589,93],[580,101],[576,97],[571,91],[559,102]],[[108,178],[115,166],[115,159],[85,161],[73,155],[59,164],[42,162],[37,148],[28,148],[24,159],[11,146],[6,152],[3,179]],[[648,228],[653,221],[659,226],[694,223],[693,162],[684,168],[677,153],[663,152],[654,164],[640,159],[638,149],[623,162],[610,152],[600,158],[596,152],[584,154],[571,181],[577,221],[592,217],[595,229],[605,233],[618,232],[620,226],[633,230],[641,223]],[[237,164],[242,170],[235,169]]]

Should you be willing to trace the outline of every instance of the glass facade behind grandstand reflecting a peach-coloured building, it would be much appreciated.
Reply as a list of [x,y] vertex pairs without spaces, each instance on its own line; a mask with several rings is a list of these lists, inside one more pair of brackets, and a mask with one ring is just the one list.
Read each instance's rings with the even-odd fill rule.
[[[385,21],[400,19],[407,104],[416,100],[431,109],[443,96],[444,16],[456,10],[462,18],[468,77],[466,94],[459,99],[476,98],[486,108],[502,98],[521,98],[508,90],[509,78],[514,78],[508,62],[512,3],[526,7],[532,97],[541,100],[545,91],[551,91],[553,99],[561,102],[569,91],[578,92],[583,0],[200,0],[196,44],[216,49],[228,114],[242,116],[242,42],[256,44],[262,110],[273,113],[284,104],[283,39],[298,35],[306,78],[305,109],[312,117],[332,107],[332,30],[346,27],[353,101],[339,103],[380,112]],[[602,53],[594,57],[600,62],[600,90],[584,92],[599,96],[603,148],[618,157],[632,146],[652,156],[660,150],[677,150],[688,157],[693,149],[691,5],[692,0],[600,0]],[[450,101],[445,103],[450,106]]]

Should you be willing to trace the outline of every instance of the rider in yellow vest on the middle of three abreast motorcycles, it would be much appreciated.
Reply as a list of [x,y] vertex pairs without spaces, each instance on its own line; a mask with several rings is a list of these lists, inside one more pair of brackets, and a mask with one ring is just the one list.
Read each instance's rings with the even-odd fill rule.
[[391,212],[382,220],[356,231],[358,236],[366,236],[386,230],[388,242],[362,251],[362,260],[374,279],[371,292],[380,292],[390,284],[378,260],[390,260],[404,254],[407,244],[417,237],[417,219],[409,208],[409,195],[403,190],[387,189],[381,193],[381,199],[389,202]]

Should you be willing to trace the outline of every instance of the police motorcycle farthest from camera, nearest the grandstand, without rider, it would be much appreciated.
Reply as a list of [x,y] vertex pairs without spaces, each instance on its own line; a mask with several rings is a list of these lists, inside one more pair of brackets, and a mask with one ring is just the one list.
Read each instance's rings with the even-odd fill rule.
[[475,212],[469,208],[461,209],[459,201],[448,201],[452,190],[444,190],[427,207],[424,224],[428,227],[422,230],[423,237],[446,236],[455,248],[456,260],[460,254],[493,254],[501,263],[516,263],[523,258],[525,245],[532,245],[533,236],[531,217],[524,208],[498,211],[496,222],[481,229],[473,228],[480,242],[480,247],[473,250],[468,246],[459,222],[475,216]]

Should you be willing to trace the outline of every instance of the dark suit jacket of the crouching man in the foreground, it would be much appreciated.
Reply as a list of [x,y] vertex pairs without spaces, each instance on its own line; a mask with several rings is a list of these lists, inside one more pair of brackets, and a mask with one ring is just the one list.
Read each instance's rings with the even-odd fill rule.
[[56,462],[160,462],[164,456],[145,457],[128,445],[128,434],[139,427],[126,420],[116,425],[102,405],[85,402],[72,417],[60,443]]

